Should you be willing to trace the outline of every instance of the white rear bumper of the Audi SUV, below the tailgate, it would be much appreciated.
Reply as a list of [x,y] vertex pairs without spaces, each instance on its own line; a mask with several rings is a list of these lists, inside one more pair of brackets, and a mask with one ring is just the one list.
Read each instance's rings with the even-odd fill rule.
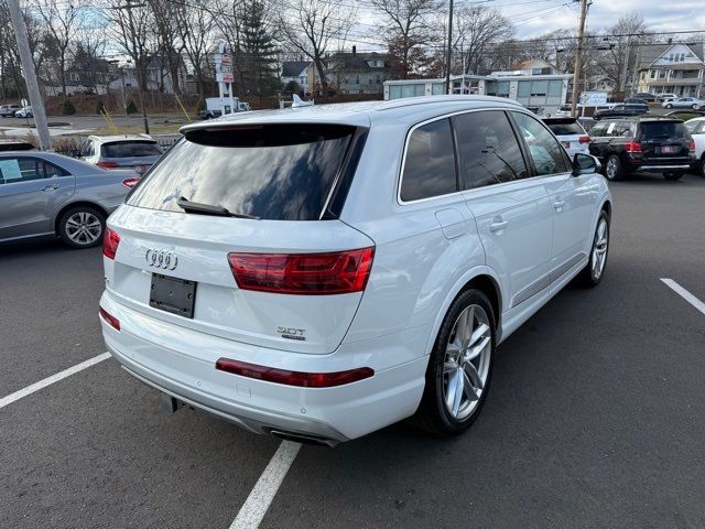
[[[341,345],[330,355],[285,353],[185,330],[138,313],[104,294],[101,306],[120,321],[116,331],[101,319],[112,356],[143,382],[195,408],[254,433],[271,430],[321,439],[327,444],[347,441],[410,417],[416,410],[425,381],[427,357],[379,369],[370,364],[378,347],[386,356],[390,336]],[[393,339],[392,335],[392,339]],[[398,342],[401,337],[398,337]],[[355,349],[360,354],[356,354]],[[268,353],[271,353],[268,354]],[[333,388],[300,388],[245,378],[215,369],[219,357],[283,369],[328,373],[366,366],[375,376]]]

